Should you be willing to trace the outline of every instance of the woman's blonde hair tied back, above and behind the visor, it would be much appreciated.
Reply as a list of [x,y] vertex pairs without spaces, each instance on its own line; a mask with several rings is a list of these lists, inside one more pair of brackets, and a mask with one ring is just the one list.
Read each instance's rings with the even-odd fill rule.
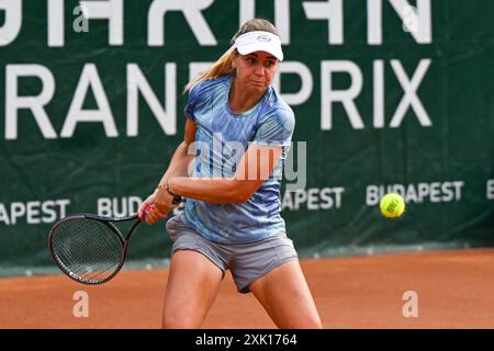
[[203,80],[216,79],[218,77],[234,75],[235,69],[232,67],[232,61],[234,59],[234,56],[238,55],[238,53],[233,44],[235,43],[235,39],[242,34],[254,31],[265,31],[280,36],[277,27],[268,20],[266,19],[248,20],[240,26],[240,29],[232,37],[231,41],[232,46],[213,64],[213,66],[211,66],[210,69],[207,69],[202,75],[191,79],[183,88],[183,93],[189,92],[197,83],[200,83]]

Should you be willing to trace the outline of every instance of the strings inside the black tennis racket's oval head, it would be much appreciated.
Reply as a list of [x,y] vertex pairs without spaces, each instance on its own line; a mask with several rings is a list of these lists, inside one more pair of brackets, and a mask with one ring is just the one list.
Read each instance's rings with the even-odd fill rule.
[[105,224],[91,218],[60,223],[53,233],[54,256],[64,269],[80,280],[96,283],[120,267],[122,242]]

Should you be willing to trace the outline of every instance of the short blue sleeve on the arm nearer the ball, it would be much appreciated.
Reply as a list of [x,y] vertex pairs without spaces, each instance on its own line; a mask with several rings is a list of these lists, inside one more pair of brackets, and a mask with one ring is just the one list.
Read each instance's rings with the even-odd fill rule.
[[290,146],[295,116],[293,111],[277,109],[267,114],[259,124],[254,143],[270,146]]

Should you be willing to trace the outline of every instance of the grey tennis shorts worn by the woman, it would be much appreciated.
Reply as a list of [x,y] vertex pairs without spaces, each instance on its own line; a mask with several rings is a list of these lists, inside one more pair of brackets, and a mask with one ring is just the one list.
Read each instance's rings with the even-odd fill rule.
[[[249,293],[249,285],[274,268],[297,260],[293,241],[285,231],[249,244],[220,244],[207,240],[186,226],[181,215],[167,222],[167,231],[173,241],[171,254],[178,250],[193,250],[205,256],[225,276],[229,270],[240,293]],[[222,278],[222,279],[223,279]]]

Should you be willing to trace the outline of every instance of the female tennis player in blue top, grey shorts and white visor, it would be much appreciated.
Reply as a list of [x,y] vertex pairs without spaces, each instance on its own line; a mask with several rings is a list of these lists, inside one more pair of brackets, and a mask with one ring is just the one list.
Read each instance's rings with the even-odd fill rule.
[[291,107],[270,86],[283,59],[280,37],[269,21],[252,19],[232,42],[186,87],[184,139],[139,208],[155,203],[151,225],[173,197],[186,199],[167,223],[173,246],[162,327],[200,327],[231,270],[237,290],[252,292],[279,328],[322,328],[280,215],[277,174],[294,128]]

